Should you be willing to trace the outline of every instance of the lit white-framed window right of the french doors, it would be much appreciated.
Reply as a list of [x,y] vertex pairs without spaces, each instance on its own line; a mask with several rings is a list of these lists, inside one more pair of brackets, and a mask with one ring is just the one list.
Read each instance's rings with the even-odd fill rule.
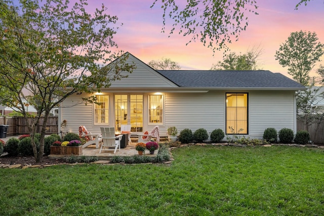
[[163,123],[163,95],[150,95],[148,103],[149,123]]

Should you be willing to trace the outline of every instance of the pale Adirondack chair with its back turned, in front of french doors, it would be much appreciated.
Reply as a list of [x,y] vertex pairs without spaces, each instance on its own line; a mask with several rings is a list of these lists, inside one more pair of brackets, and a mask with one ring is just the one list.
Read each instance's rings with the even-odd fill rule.
[[120,140],[123,137],[123,135],[115,136],[114,127],[100,127],[100,130],[102,135],[102,145],[99,154],[102,150],[109,150],[109,148],[114,148],[114,154],[116,153],[118,147],[120,151]]

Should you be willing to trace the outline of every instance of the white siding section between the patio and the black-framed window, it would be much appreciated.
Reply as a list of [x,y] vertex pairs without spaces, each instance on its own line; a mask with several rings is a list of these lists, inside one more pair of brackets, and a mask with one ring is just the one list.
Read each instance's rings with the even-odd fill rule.
[[224,128],[224,96],[219,93],[168,93],[165,101],[165,128],[176,126],[179,133]]

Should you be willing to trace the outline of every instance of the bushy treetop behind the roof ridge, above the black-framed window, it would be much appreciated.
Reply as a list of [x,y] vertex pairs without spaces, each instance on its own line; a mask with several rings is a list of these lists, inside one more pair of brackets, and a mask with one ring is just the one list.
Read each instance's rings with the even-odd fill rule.
[[245,54],[231,52],[223,57],[223,61],[213,64],[211,70],[258,70],[258,58],[262,52],[259,47],[253,47]]

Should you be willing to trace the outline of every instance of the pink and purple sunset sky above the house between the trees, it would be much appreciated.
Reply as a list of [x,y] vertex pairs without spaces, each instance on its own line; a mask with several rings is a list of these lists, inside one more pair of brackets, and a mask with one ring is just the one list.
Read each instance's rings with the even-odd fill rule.
[[[181,68],[209,70],[213,63],[222,60],[223,53],[213,52],[199,41],[186,43],[191,39],[179,34],[169,36],[169,32],[161,33],[163,26],[163,9],[159,6],[150,8],[154,0],[104,0],[88,1],[89,7],[100,8],[103,3],[108,14],[116,15],[119,24],[123,23],[114,39],[119,49],[128,51],[145,63],[163,57],[170,58],[180,64]],[[298,0],[259,0],[257,12],[247,14],[249,26],[239,35],[238,41],[230,45],[232,52],[245,53],[249,48],[260,46],[263,54],[259,65],[264,70],[280,72],[287,75],[275,60],[275,51],[284,43],[291,32],[316,32],[319,41],[324,43],[324,1],[312,0],[307,6],[294,10]],[[171,21],[167,22],[170,29]],[[324,56],[321,57],[324,61]],[[324,64],[324,62],[320,62]],[[318,68],[319,64],[313,68]],[[315,75],[314,72],[311,75]],[[289,76],[291,77],[291,76]]]

